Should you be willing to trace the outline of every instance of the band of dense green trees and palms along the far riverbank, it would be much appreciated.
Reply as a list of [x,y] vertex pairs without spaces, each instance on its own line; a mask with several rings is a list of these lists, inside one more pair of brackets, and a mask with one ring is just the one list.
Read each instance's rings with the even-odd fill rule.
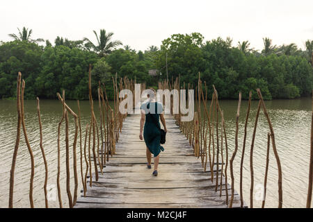
[[[32,30],[22,28],[10,34],[12,42],[0,43],[0,98],[16,97],[16,75],[21,71],[26,81],[26,99],[56,99],[65,89],[67,99],[88,99],[88,65],[93,65],[93,85],[106,84],[112,99],[112,77],[127,76],[137,83],[157,87],[159,80],[175,79],[193,86],[206,81],[208,92],[214,84],[220,99],[236,99],[239,91],[248,99],[249,92],[262,90],[264,99],[293,99],[311,94],[313,85],[313,40],[305,50],[296,44],[276,46],[264,37],[264,49],[250,48],[248,41],[235,44],[230,37],[205,41],[200,33],[175,34],[161,42],[136,51],[113,40],[113,33],[94,31],[97,42],[84,37],[67,40],[31,38]],[[166,66],[167,64],[167,66]],[[150,76],[149,70],[157,76]],[[97,89],[97,87],[93,87]],[[93,92],[95,96],[97,92]],[[252,95],[257,99],[257,94]]]

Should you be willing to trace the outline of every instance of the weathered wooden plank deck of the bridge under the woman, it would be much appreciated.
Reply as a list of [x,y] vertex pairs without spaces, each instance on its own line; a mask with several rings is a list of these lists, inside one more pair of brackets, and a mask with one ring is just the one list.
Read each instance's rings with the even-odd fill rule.
[[[209,169],[204,172],[171,115],[166,115],[168,134],[159,175],[152,176],[153,165],[146,167],[145,142],[138,138],[139,119],[136,114],[125,119],[116,154],[75,207],[227,207],[225,186],[220,197],[220,191],[215,191],[216,172],[211,182]],[[230,199],[230,185],[227,187]],[[233,207],[239,206],[236,193]]]

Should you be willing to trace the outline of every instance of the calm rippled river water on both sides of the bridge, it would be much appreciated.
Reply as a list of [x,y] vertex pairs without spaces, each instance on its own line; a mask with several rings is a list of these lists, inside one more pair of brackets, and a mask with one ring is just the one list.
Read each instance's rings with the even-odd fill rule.
[[[67,101],[68,105],[77,112],[77,102]],[[239,123],[239,151],[234,161],[234,173],[236,178],[235,189],[239,191],[239,167],[243,142],[243,128],[247,101],[241,104],[241,117]],[[97,104],[97,103],[95,103]],[[236,101],[220,101],[220,106],[224,111],[225,123],[227,127],[228,144],[230,154],[234,148]],[[294,100],[275,100],[266,101],[266,107],[270,114],[273,128],[275,131],[276,146],[282,163],[283,176],[283,207],[305,207],[308,180],[308,162],[310,155],[310,123],[311,123],[311,99]],[[57,128],[58,121],[62,115],[62,105],[59,101],[42,100],[40,101],[42,116],[43,146],[47,156],[49,167],[48,185],[51,188],[51,197],[54,198],[54,187],[56,186],[56,155],[57,155]],[[98,117],[97,106],[95,114]],[[243,198],[246,203],[250,203],[250,167],[249,153],[252,137],[252,130],[257,111],[257,101],[252,101],[250,121],[248,124],[248,137],[246,142],[246,155],[243,172]],[[81,126],[83,132],[86,130],[86,123],[90,121],[90,106],[88,101],[81,101]],[[45,179],[45,166],[39,147],[38,116],[36,112],[36,101],[25,101],[25,121],[29,142],[33,148],[35,156],[35,178],[34,178],[34,204],[35,207],[45,207],[45,197],[43,184]],[[70,119],[70,137],[74,135],[74,122]],[[15,101],[0,100],[0,207],[8,207],[8,191],[10,166],[12,162],[13,149],[15,146],[17,125],[17,112]],[[64,127],[61,129],[64,135]],[[257,128],[257,137],[254,148],[254,170],[255,186],[263,184],[263,176],[266,159],[267,133],[269,132],[267,121],[264,115],[260,114]],[[64,142],[64,137],[61,142]],[[78,144],[79,150],[79,144]],[[67,205],[67,195],[65,190],[65,149],[62,148],[61,154],[61,189],[63,205]],[[79,155],[78,155],[79,161]],[[72,164],[72,162],[71,162]],[[79,182],[80,167],[78,169]],[[71,176],[73,173],[71,172]],[[24,142],[24,135],[21,131],[21,141],[17,155],[15,169],[15,207],[29,207],[29,178],[30,178],[30,157]],[[266,194],[266,207],[278,206],[278,171],[276,167],[273,151],[270,153],[270,167],[268,171],[268,190]],[[74,180],[72,180],[73,183]],[[230,180],[229,180],[230,182]],[[79,189],[81,189],[79,184]],[[73,190],[73,189],[72,189]],[[255,207],[261,206],[261,201],[255,200]],[[49,207],[58,207],[58,200],[49,201]]]

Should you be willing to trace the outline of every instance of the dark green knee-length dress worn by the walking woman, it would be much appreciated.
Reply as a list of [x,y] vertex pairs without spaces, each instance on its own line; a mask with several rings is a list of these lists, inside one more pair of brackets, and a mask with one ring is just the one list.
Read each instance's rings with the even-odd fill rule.
[[145,110],[145,126],[143,128],[145,145],[149,148],[150,153],[153,153],[154,157],[157,157],[161,151],[164,151],[164,148],[160,145],[160,130],[157,128],[157,125],[152,118],[156,119],[159,126],[161,126],[159,120],[160,114],[163,111],[162,104],[155,102],[143,103],[143,105],[141,105],[141,110]]

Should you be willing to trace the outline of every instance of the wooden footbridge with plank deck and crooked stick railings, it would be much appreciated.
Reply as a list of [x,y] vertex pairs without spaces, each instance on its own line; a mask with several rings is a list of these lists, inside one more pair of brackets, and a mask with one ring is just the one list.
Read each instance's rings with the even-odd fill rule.
[[[17,76],[17,139],[15,142],[15,149],[13,153],[13,162],[10,171],[10,194],[9,207],[13,207],[14,194],[14,172],[15,162],[17,158],[17,150],[19,148],[19,135],[21,130],[21,123],[23,127],[23,134],[26,145],[31,155],[31,180],[29,186],[29,202],[31,207],[33,205],[33,178],[35,172],[35,162],[31,145],[28,141],[26,127],[24,123],[24,88],[25,82],[22,81],[22,74]],[[60,160],[61,160],[61,125],[65,121],[65,147],[66,156],[66,191],[67,204],[69,207],[246,207],[243,203],[242,196],[234,190],[234,157],[238,151],[238,133],[239,133],[239,112],[241,107],[241,93],[239,92],[238,108],[236,113],[236,134],[235,146],[232,155],[229,155],[227,146],[227,133],[225,130],[225,121],[223,117],[223,110],[221,110],[218,103],[218,93],[214,88],[212,94],[211,105],[207,109],[207,90],[205,94],[202,90],[202,82],[200,76],[198,79],[198,94],[195,94],[197,102],[197,111],[194,112],[195,118],[193,121],[181,121],[182,113],[166,114],[166,124],[168,128],[167,142],[164,146],[165,152],[161,152],[161,160],[159,164],[159,175],[152,176],[152,169],[147,169],[146,166],[146,147],[145,142],[141,141],[139,135],[140,114],[126,114],[120,113],[118,110],[120,105],[120,97],[118,89],[130,89],[135,91],[136,81],[128,78],[120,78],[118,85],[117,76],[113,79],[114,86],[114,101],[113,108],[109,103],[106,95],[104,85],[98,87],[98,101],[99,101],[99,127],[94,113],[94,103],[91,90],[91,65],[89,67],[89,99],[90,99],[90,125],[86,125],[86,134],[84,148],[81,134],[81,113],[79,108],[79,101],[77,101],[78,114],[65,103],[65,91],[63,95],[57,94],[58,99],[63,106],[63,115],[61,121],[58,123],[58,202],[59,206],[63,207],[63,200],[60,186]],[[205,83],[204,83],[205,86]],[[103,88],[104,91],[103,91]],[[140,86],[145,89],[145,85]],[[159,83],[159,89],[181,89],[179,78],[175,82],[168,83],[167,81]],[[186,85],[183,85],[186,89]],[[188,84],[188,89],[191,85]],[[21,92],[22,90],[22,92]],[[196,90],[197,91],[197,90]],[[197,96],[198,95],[198,96]],[[204,96],[205,95],[205,96]],[[282,169],[278,150],[275,145],[274,130],[271,119],[266,110],[261,91],[257,89],[259,103],[257,107],[257,114],[252,135],[252,144],[250,146],[250,160],[253,155],[253,144],[255,141],[255,133],[257,130],[257,121],[261,110],[268,122],[270,133],[267,135],[267,150],[266,150],[266,171],[264,173],[264,190],[266,190],[268,161],[270,154],[270,145],[273,147],[273,153],[278,168],[278,207],[282,207]],[[136,98],[136,97],[135,97]],[[174,99],[174,98],[173,98]],[[248,109],[246,112],[245,136],[243,140],[242,153],[244,154],[246,145],[246,133],[248,125],[248,117],[250,112],[250,105],[252,100],[252,92],[249,94]],[[136,100],[135,100],[136,101]],[[204,113],[201,114],[201,105],[204,104]],[[138,106],[137,106],[138,107]],[[172,108],[172,107],[171,107]],[[38,121],[40,130],[40,149],[42,152],[42,159],[45,163],[45,207],[49,207],[47,196],[47,160],[45,158],[45,151],[42,147],[42,124],[40,120],[40,105],[38,99]],[[74,117],[75,135],[73,139],[72,158],[70,157],[70,141],[68,115]],[[127,118],[125,118],[127,117]],[[89,129],[89,130],[88,130]],[[220,134],[218,131],[220,130]],[[214,133],[216,132],[216,133]],[[87,137],[89,134],[89,137]],[[214,135],[215,134],[215,135]],[[79,135],[80,147],[80,167],[81,167],[81,182],[83,190],[81,196],[77,198],[77,189],[79,187],[79,175],[77,173],[77,139]],[[91,145],[91,135],[93,135],[93,144]],[[101,135],[101,137],[99,136]],[[89,138],[87,140],[87,138]],[[187,139],[188,138],[188,139]],[[216,139],[214,139],[216,138]],[[215,142],[214,142],[215,140]],[[88,152],[86,144],[88,141]],[[101,141],[101,142],[100,142]],[[225,142],[225,146],[223,146]],[[71,142],[72,143],[72,142]],[[106,144],[99,153],[99,144]],[[96,151],[97,144],[97,151]],[[214,148],[216,144],[216,148]],[[220,146],[219,146],[220,144]],[[91,146],[92,152],[91,153]],[[224,147],[224,148],[223,148]],[[223,151],[225,151],[223,156]],[[311,152],[312,153],[312,152]],[[111,156],[110,154],[113,154]],[[93,155],[93,157],[92,157]],[[98,156],[96,156],[98,155]],[[101,155],[101,159],[100,159]],[[110,157],[111,156],[111,157]],[[195,157],[197,156],[197,157]],[[88,157],[88,158],[87,158]],[[104,157],[104,158],[103,158]],[[220,159],[219,159],[220,157]],[[241,155],[241,167],[243,169],[243,157]],[[85,164],[83,164],[83,158]],[[87,160],[89,159],[89,161]],[[93,159],[93,164],[92,160]],[[312,159],[312,158],[311,158]],[[74,171],[74,195],[71,194],[70,189],[70,160],[73,160]],[[106,160],[106,161],[105,161]],[[221,165],[219,160],[221,160]],[[225,160],[225,161],[224,161]],[[153,160],[152,160],[153,161]],[[88,164],[89,162],[89,164]],[[102,162],[104,166],[102,168]],[[225,163],[225,166],[223,165]],[[227,168],[229,164],[229,168]],[[83,173],[83,165],[86,165],[86,172]],[[88,168],[89,166],[89,168]],[[223,171],[224,168],[224,171]],[[312,166],[310,166],[311,172]],[[100,169],[100,173],[99,173]],[[227,172],[230,171],[228,181],[232,181],[232,185],[227,184],[224,176],[227,177]],[[103,171],[103,174],[102,174]],[[250,161],[250,205],[253,207],[253,163]],[[84,176],[83,176],[84,174]],[[90,175],[88,178],[87,175]],[[242,178],[242,174],[241,174]],[[312,178],[312,174],[310,174]],[[90,180],[92,179],[92,180]],[[221,179],[221,180],[220,180]],[[87,182],[89,180],[89,182]],[[242,180],[239,180],[239,187],[242,187]],[[312,180],[310,180],[312,181]],[[92,185],[92,186],[91,186]],[[91,186],[91,187],[90,187]],[[309,184],[309,189],[312,190],[312,183]],[[241,194],[242,194],[242,189]],[[308,191],[307,207],[310,207],[312,192]],[[265,206],[265,193],[262,207]]]

